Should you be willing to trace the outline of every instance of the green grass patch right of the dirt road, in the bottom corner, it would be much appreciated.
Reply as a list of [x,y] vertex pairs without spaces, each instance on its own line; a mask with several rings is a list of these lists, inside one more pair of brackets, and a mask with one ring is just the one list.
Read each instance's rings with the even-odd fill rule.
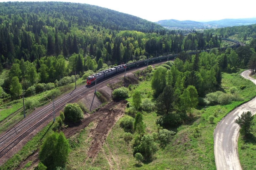
[[256,169],[256,116],[253,118],[252,136],[238,137],[238,155],[244,170]]

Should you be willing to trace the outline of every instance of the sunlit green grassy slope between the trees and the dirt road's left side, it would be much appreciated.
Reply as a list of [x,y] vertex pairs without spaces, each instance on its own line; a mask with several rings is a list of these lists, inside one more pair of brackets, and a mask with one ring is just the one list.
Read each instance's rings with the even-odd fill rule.
[[[223,73],[222,76],[222,88],[224,91],[229,92],[229,88],[233,86],[239,89],[240,85],[246,85],[246,88],[239,92],[244,97],[244,101],[250,100],[256,95],[256,86],[249,80],[241,78],[239,74]],[[137,89],[141,92],[152,93],[150,82],[141,82]],[[147,90],[144,91],[144,89]],[[150,94],[143,95],[144,98],[146,96],[150,96]],[[155,154],[155,159],[150,163],[145,163],[140,169],[216,169],[213,151],[214,128],[217,122],[229,111],[244,101],[231,102],[225,106],[207,107],[205,111],[203,109],[195,109],[193,113],[195,119],[192,122],[181,125],[170,144],[165,148],[159,147]],[[213,124],[210,124],[208,117],[216,110],[219,110],[218,117],[214,119]],[[144,112],[143,116],[147,125],[146,132],[156,132],[156,113]],[[194,137],[194,128],[199,124],[201,124],[199,137]],[[100,155],[104,155],[104,152],[108,150],[112,153],[114,168],[136,169],[137,161],[132,156],[133,141],[127,146],[123,139],[123,133],[123,129],[119,127],[119,122],[117,122],[106,139],[104,144],[106,149],[101,151]],[[108,159],[106,157],[99,156],[97,160],[97,167],[108,169]]]

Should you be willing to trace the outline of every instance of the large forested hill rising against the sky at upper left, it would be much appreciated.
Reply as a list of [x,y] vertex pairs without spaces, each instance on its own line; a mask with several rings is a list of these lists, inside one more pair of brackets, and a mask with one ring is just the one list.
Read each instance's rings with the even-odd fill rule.
[[[58,22],[68,22],[69,26],[76,24],[77,26],[102,26],[112,30],[136,30],[140,32],[158,32],[163,31],[162,26],[147,21],[136,16],[121,13],[118,11],[102,8],[89,4],[66,3],[66,2],[5,2],[0,3],[1,16],[7,15],[11,18],[14,15],[18,27],[24,23],[24,19],[31,20],[26,14],[36,14],[40,16],[40,22],[37,25],[38,32],[40,26],[56,26]],[[21,15],[20,15],[21,14]],[[18,17],[20,16],[20,17]],[[0,24],[3,23],[1,17]],[[22,21],[23,20],[23,21]],[[39,24],[39,25],[38,25]],[[63,24],[63,26],[65,26]]]

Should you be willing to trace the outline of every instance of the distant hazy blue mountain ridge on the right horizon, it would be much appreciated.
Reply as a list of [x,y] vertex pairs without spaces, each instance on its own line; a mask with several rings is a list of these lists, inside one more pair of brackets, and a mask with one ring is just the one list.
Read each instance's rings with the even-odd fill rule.
[[221,19],[216,21],[198,22],[198,21],[179,21],[176,19],[160,20],[157,24],[169,28],[187,28],[187,29],[207,29],[221,28],[228,26],[242,26],[256,23],[256,18],[238,18],[238,19]]

